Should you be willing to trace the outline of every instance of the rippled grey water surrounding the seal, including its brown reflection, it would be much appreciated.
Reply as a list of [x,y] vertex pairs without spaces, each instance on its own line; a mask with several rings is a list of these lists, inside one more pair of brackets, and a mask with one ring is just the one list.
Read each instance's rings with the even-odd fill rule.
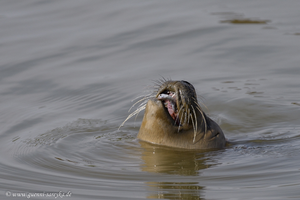
[[[0,2],[1,199],[299,199],[299,18],[299,1]],[[161,76],[194,85],[230,146],[141,143],[143,113],[118,130]]]

